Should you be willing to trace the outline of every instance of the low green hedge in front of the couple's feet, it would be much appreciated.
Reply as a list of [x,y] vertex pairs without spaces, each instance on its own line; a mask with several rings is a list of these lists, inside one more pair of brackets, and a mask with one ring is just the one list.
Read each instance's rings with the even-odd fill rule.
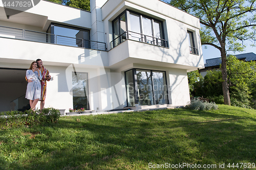
[[42,109],[42,111],[7,111],[1,112],[0,124],[3,127],[17,127],[21,125],[31,126],[45,123],[57,123],[59,116],[59,110],[54,108],[45,108]]

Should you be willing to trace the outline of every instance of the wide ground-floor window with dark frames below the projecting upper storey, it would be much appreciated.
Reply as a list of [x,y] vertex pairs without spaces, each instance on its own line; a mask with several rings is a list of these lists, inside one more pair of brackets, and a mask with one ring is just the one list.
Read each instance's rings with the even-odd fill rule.
[[127,106],[168,104],[164,71],[131,69],[125,72]]

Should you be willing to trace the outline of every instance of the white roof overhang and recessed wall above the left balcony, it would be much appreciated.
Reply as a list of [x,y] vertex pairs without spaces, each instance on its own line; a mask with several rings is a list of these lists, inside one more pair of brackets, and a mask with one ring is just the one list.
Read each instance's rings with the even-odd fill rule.
[[[77,27],[91,29],[91,12],[84,11],[48,1],[40,1],[35,7],[29,10],[6,18],[3,3],[0,2],[0,20],[17,23],[30,23],[29,16],[38,19],[38,25],[42,28],[49,27],[50,22],[65,23]],[[86,21],[84,19],[86,18]],[[42,22],[42,23],[39,23]],[[31,23],[35,24],[35,23]],[[30,24],[28,24],[30,25]],[[46,28],[45,28],[46,29]]]

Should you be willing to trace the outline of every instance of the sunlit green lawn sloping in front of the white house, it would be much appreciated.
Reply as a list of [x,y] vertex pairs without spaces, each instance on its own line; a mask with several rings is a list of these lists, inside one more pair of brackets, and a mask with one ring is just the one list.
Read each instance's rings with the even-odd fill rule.
[[58,124],[2,129],[0,169],[151,169],[165,163],[232,169],[232,163],[256,163],[255,120],[256,110],[225,105],[66,116]]

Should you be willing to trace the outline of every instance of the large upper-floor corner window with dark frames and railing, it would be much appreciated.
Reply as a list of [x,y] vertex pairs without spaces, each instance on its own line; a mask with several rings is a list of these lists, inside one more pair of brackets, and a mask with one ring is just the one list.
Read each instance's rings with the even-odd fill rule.
[[125,10],[113,20],[112,27],[112,48],[127,38],[164,47],[168,46],[167,41],[164,40],[163,24],[157,19]]

